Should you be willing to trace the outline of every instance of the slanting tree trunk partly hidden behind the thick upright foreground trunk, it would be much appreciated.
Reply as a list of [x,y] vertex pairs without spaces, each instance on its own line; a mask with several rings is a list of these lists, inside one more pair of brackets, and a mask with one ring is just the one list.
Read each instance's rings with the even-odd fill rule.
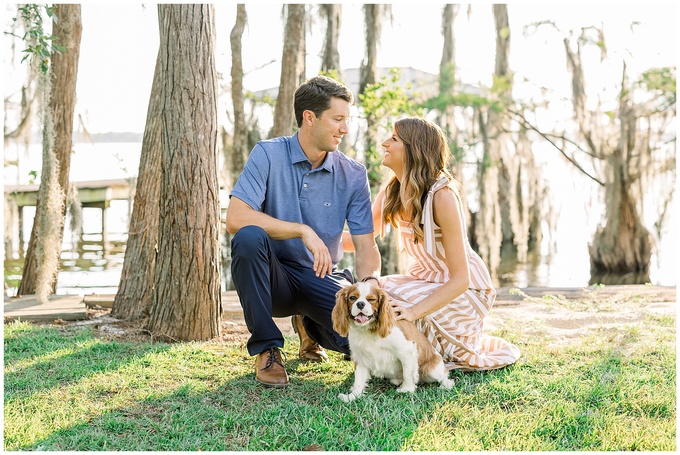
[[111,311],[119,319],[145,319],[151,313],[161,192],[163,77],[159,53],[146,113],[125,260]]

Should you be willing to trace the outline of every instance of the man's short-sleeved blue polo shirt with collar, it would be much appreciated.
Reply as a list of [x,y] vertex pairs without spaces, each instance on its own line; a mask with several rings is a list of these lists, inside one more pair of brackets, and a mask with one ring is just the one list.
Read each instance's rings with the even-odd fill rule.
[[[258,142],[231,196],[279,220],[310,226],[328,247],[334,265],[342,258],[345,221],[352,235],[373,232],[366,168],[334,151],[312,169],[297,133]],[[313,267],[314,257],[301,239],[273,243],[282,262]]]

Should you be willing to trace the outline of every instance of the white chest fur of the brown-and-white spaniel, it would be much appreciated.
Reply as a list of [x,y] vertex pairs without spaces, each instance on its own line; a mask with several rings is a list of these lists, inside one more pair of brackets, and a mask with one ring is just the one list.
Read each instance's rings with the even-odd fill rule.
[[397,327],[385,338],[368,330],[351,327],[348,334],[352,360],[361,363],[371,376],[403,379],[404,357],[417,358],[416,344],[408,341]]

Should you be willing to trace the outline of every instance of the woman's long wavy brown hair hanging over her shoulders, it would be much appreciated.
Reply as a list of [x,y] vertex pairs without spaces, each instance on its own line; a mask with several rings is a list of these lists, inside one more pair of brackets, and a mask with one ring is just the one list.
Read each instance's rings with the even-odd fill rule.
[[[404,142],[404,179],[396,176],[385,188],[383,223],[397,225],[397,219],[411,221],[416,243],[423,240],[423,206],[427,192],[442,176],[456,183],[448,171],[451,155],[444,132],[436,124],[417,117],[397,120],[394,131]],[[403,202],[403,203],[402,203]]]

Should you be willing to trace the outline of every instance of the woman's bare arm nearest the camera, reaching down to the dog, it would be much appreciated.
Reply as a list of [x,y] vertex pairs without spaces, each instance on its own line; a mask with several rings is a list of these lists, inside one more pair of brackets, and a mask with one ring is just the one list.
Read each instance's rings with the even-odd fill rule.
[[[443,190],[443,191],[442,191]],[[450,188],[434,194],[434,221],[442,230],[442,244],[449,268],[449,280],[435,292],[410,308],[395,305],[397,319],[415,321],[433,313],[465,292],[470,285],[470,270],[465,252],[465,233],[458,200]]]

